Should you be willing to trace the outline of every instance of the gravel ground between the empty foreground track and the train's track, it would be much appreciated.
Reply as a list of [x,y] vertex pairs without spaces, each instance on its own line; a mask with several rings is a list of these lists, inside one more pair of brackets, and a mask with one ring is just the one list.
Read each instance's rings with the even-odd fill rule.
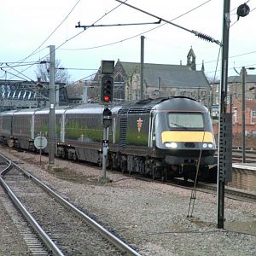
[[[256,255],[256,205],[225,199],[224,230],[217,229],[215,195],[197,192],[193,218],[187,217],[191,192],[148,183],[72,162],[55,160],[61,171],[48,170],[48,157],[12,154],[26,170],[65,196],[142,255]],[[12,232],[12,230],[10,230]],[[2,245],[3,246],[3,245]],[[0,251],[1,252],[1,251]]]

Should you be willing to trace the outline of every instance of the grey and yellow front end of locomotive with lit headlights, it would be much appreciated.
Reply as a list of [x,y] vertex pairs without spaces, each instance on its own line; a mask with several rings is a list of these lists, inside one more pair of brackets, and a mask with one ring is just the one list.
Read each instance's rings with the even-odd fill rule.
[[184,174],[195,172],[199,166],[206,172],[216,164],[216,143],[207,108],[189,98],[170,102],[171,106],[159,109],[155,118],[155,145],[164,154],[166,169]]

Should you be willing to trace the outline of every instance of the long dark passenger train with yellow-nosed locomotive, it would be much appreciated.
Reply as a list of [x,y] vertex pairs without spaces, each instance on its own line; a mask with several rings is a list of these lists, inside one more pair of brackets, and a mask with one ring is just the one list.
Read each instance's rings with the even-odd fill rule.
[[[56,107],[55,157],[101,166],[104,109],[97,103]],[[108,168],[162,180],[212,177],[216,143],[210,113],[200,102],[170,96],[109,105],[108,110]],[[49,139],[49,108],[0,113],[1,143],[38,151],[34,140],[39,135]]]

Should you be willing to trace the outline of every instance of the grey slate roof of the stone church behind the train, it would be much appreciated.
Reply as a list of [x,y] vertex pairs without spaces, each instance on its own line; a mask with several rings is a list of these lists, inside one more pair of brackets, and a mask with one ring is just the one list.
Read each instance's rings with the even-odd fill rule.
[[[140,63],[119,61],[128,77],[140,73]],[[191,70],[184,65],[144,63],[144,83],[155,87],[160,78],[160,86],[175,88],[208,88],[209,83],[203,71]]]

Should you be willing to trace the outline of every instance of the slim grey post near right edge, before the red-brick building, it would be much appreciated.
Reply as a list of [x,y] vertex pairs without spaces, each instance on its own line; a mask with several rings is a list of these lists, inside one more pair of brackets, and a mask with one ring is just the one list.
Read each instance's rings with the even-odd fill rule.
[[242,162],[246,162],[246,142],[245,142],[245,84],[246,68],[241,67],[241,138],[242,138]]

